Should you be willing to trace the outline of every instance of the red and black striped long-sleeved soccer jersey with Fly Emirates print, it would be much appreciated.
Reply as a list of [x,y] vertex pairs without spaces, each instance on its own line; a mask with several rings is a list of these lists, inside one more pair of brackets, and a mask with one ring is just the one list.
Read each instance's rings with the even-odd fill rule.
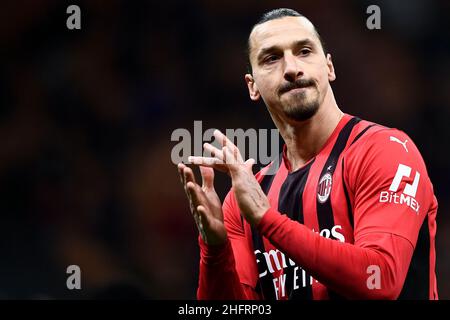
[[229,241],[199,237],[198,298],[438,298],[437,200],[404,132],[346,114],[303,167],[284,150],[256,178],[271,208],[251,227],[230,190]]

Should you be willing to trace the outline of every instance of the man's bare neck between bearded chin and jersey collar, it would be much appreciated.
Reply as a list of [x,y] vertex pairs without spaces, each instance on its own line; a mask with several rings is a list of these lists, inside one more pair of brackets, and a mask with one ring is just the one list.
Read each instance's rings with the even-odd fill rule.
[[273,117],[286,143],[291,171],[301,168],[320,152],[343,116],[330,89],[317,113],[306,121],[292,122]]

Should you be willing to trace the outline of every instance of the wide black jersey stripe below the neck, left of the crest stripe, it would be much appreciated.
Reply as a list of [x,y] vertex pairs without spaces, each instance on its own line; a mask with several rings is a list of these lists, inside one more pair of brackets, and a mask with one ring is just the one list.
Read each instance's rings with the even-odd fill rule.
[[[305,189],[306,181],[308,180],[309,171],[314,160],[303,168],[291,172],[286,177],[280,189],[278,197],[278,211],[286,214],[291,220],[298,221],[301,224],[304,222],[303,218],[303,190]],[[286,256],[286,260],[289,257]],[[297,267],[297,274],[303,280],[303,272],[300,266]],[[285,269],[286,274],[286,293],[289,299],[312,300],[312,287],[310,285],[310,274],[306,273],[306,286],[303,284],[296,290],[292,290],[294,283],[294,268],[289,266]],[[303,283],[303,281],[302,281]]]

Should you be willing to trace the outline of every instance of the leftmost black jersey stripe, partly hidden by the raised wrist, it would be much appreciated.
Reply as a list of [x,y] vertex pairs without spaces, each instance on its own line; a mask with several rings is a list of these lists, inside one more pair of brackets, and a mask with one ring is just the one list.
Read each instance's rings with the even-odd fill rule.
[[[280,154],[278,159],[274,161],[273,165],[279,168],[282,159],[283,155]],[[275,174],[264,175],[264,177],[260,182],[261,189],[266,195],[269,193],[270,187],[272,186],[273,179],[275,178],[277,171],[278,170],[272,171],[275,172]],[[242,214],[241,219],[244,219]],[[255,252],[256,250],[259,250],[261,252],[256,256],[256,259],[258,259],[260,262],[258,263],[258,274],[261,274],[264,271],[268,270],[266,259],[264,258],[263,255],[263,252],[266,252],[266,249],[264,248],[264,242],[258,230],[256,230],[256,228],[254,228],[253,226],[251,228],[252,228],[253,249],[255,250]],[[256,290],[261,294],[261,296],[264,297],[264,299],[276,300],[274,290],[264,290],[264,288],[273,288],[273,277],[271,277],[270,274],[264,276],[263,278],[258,279],[258,285],[256,287]]]

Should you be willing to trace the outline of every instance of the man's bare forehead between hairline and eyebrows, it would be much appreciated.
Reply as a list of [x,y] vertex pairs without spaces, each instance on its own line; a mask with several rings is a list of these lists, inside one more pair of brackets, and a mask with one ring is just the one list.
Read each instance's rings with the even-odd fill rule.
[[280,37],[318,40],[314,25],[305,17],[283,17],[257,25],[250,33],[252,52],[261,47],[277,45]]

